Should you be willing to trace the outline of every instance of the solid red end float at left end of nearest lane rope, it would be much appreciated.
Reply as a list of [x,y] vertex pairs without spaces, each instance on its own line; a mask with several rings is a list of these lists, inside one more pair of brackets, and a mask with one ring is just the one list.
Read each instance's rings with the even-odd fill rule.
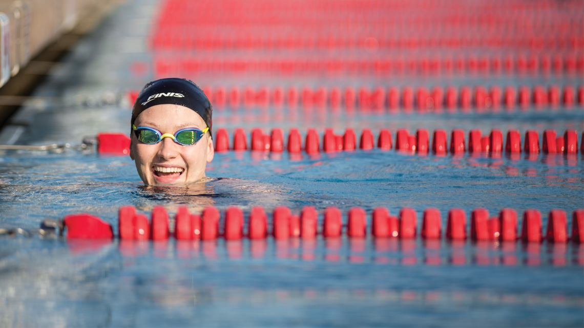
[[65,215],[63,224],[67,228],[67,239],[113,238],[112,226],[99,217],[88,213]]

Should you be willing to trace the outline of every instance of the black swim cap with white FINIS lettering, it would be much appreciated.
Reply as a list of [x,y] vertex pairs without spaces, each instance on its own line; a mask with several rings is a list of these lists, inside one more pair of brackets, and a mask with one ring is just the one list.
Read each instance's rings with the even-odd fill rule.
[[166,78],[145,85],[134,103],[131,124],[134,124],[142,111],[159,104],[176,104],[196,111],[209,127],[209,135],[213,137],[211,134],[213,106],[203,90],[193,81]]

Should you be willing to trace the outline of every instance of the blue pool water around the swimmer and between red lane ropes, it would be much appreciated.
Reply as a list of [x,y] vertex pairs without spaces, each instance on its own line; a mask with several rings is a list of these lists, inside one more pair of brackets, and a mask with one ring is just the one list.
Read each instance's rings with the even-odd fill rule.
[[[53,96],[63,103],[23,107],[15,120],[26,122],[27,129],[16,143],[79,145],[85,136],[102,131],[127,134],[131,113],[126,90],[141,88],[155,72],[133,75],[127,67],[152,54],[144,49],[123,53],[114,45],[144,39],[156,8],[155,1],[127,2],[98,33],[82,41],[33,97]],[[103,69],[106,62],[119,69]],[[376,85],[373,80],[361,76],[360,81]],[[237,82],[206,81],[215,90],[221,83]],[[421,80],[404,76],[392,85],[418,85],[416,81]],[[268,82],[299,90],[320,84],[314,77]],[[577,86],[582,78],[423,80],[456,86],[523,82]],[[260,85],[253,79],[246,83]],[[332,88],[336,82],[327,83]],[[503,134],[517,129],[522,141],[531,129],[540,137],[546,129],[558,135],[571,129],[578,131],[580,145],[582,118],[578,105],[390,114],[242,104],[216,107],[214,130],[227,129],[231,139],[236,128],[244,128],[249,141],[256,127],[265,133],[281,128],[286,136],[298,128],[303,138],[308,128],[315,128],[322,142],[326,128],[339,135],[352,128],[357,136],[371,129],[376,138],[387,128],[394,141],[400,128],[410,134],[425,128],[430,135],[444,129],[449,141],[456,128],[465,137],[474,128],[483,135],[493,128]],[[124,205],[144,214],[162,205],[171,217],[185,205],[193,213],[208,206],[223,213],[235,206],[246,218],[252,207],[271,214],[283,205],[300,214],[308,205],[319,212],[319,227],[328,207],[339,208],[345,222],[350,208],[363,208],[368,226],[377,207],[391,215],[409,207],[417,213],[419,228],[423,212],[437,208],[444,235],[452,208],[461,208],[470,219],[471,211],[481,207],[491,216],[513,208],[519,220],[525,210],[537,209],[544,228],[548,212],[559,208],[568,214],[571,229],[572,212],[582,208],[584,197],[582,160],[581,153],[227,151],[216,153],[207,170],[207,176],[224,179],[197,188],[152,189],[142,186],[128,156],[73,149],[5,151],[0,158],[0,228],[36,229],[46,218],[89,212],[112,224],[117,235],[118,211]],[[419,232],[415,239],[380,239],[368,233],[365,239],[319,235],[314,240],[269,236],[162,242],[2,236],[0,320],[1,326],[582,326],[583,264],[584,248],[573,242],[457,242],[444,236],[422,239]]]

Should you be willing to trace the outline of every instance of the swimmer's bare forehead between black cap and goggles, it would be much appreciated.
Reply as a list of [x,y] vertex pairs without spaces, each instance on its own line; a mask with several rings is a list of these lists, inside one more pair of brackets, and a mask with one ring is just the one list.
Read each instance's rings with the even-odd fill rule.
[[153,127],[186,127],[204,128],[207,126],[203,118],[194,110],[176,104],[159,104],[140,113],[135,125],[146,124]]

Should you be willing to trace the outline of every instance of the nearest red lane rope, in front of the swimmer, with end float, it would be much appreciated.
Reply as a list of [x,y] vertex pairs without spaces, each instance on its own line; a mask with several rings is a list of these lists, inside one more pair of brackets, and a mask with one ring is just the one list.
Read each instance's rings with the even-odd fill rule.
[[[171,233],[170,219],[165,208],[157,206],[152,210],[150,222],[144,214],[137,213],[133,206],[123,206],[119,210],[118,237],[124,240],[168,240],[173,236],[178,240],[214,240],[223,237],[228,240],[242,238],[275,239],[298,237],[314,239],[318,235],[337,238],[343,232],[349,238],[416,238],[417,214],[412,208],[402,208],[397,217],[390,215],[387,208],[375,208],[371,214],[371,227],[367,226],[367,213],[363,208],[353,207],[347,211],[346,224],[342,212],[336,207],[328,207],[322,212],[322,227],[318,229],[319,212],[312,206],[305,206],[300,214],[293,214],[290,208],[276,207],[272,213],[272,224],[261,207],[253,207],[245,220],[244,212],[230,207],[223,213],[215,207],[204,208],[203,212],[191,214],[187,207],[180,207],[174,217],[175,228]],[[489,212],[477,208],[471,212],[470,233],[467,231],[467,217],[464,210],[453,208],[448,212],[446,239],[449,240],[499,240],[500,242],[541,242],[574,243],[584,242],[584,209],[572,213],[572,231],[568,235],[568,217],[563,210],[551,210],[545,235],[542,231],[541,214],[537,210],[526,210],[520,233],[517,212],[503,208],[497,217],[489,219]],[[71,214],[64,218],[67,238],[114,238],[110,224],[91,214]],[[270,229],[271,228],[271,229]],[[442,238],[442,218],[436,208],[423,211],[422,239]]]

